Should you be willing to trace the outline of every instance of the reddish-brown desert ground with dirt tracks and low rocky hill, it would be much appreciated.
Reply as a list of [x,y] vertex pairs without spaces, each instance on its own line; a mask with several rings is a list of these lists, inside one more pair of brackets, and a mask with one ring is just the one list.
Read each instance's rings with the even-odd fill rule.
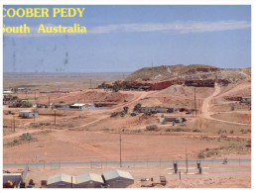
[[[188,80],[206,83],[192,86]],[[207,85],[212,81],[213,85]],[[4,88],[22,88],[13,96],[34,104],[29,108],[3,105],[5,169],[13,163],[118,161],[120,139],[123,161],[251,158],[251,107],[241,102],[242,97],[251,95],[250,68],[177,65],[143,68],[131,74],[6,73]],[[64,103],[94,104],[101,108],[55,108],[55,104]],[[131,116],[138,104],[176,111]],[[39,117],[21,118],[21,110],[37,111]],[[161,123],[163,117],[185,118],[186,122]],[[132,188],[141,186],[140,178],[159,178],[160,174],[166,175],[169,183],[165,187],[169,188],[250,187],[249,163],[235,173],[235,163],[207,165],[207,175],[184,175],[182,181],[169,175],[167,166],[123,169],[135,178]],[[39,183],[37,175],[43,171],[43,178],[47,178],[54,172],[77,173],[79,169],[32,168],[28,175]]]

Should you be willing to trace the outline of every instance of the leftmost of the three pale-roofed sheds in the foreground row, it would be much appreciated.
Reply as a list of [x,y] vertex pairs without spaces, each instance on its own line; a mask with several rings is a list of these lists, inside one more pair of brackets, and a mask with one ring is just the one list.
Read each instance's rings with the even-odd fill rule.
[[75,176],[63,173],[50,176],[47,181],[48,188],[72,188],[74,184]]

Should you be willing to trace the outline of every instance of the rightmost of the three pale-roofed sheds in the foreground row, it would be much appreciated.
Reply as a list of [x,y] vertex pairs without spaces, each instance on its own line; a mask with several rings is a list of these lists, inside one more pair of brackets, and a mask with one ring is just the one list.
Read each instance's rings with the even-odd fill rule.
[[134,179],[128,171],[119,169],[103,172],[102,177],[110,188],[126,188],[134,183]]

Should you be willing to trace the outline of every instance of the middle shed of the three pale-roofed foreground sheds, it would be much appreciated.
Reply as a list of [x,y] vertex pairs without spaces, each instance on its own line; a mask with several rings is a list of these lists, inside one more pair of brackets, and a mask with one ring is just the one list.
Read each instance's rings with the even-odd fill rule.
[[76,175],[75,182],[75,188],[101,188],[104,184],[101,175],[95,173]]

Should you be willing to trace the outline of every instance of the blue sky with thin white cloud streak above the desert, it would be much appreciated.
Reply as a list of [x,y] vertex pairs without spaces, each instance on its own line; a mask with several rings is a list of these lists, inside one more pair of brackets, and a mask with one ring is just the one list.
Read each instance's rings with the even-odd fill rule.
[[[4,72],[132,72],[142,67],[251,66],[249,5],[82,5],[82,18],[4,18],[31,34],[4,34]],[[86,34],[37,34],[47,26],[86,26]]]

